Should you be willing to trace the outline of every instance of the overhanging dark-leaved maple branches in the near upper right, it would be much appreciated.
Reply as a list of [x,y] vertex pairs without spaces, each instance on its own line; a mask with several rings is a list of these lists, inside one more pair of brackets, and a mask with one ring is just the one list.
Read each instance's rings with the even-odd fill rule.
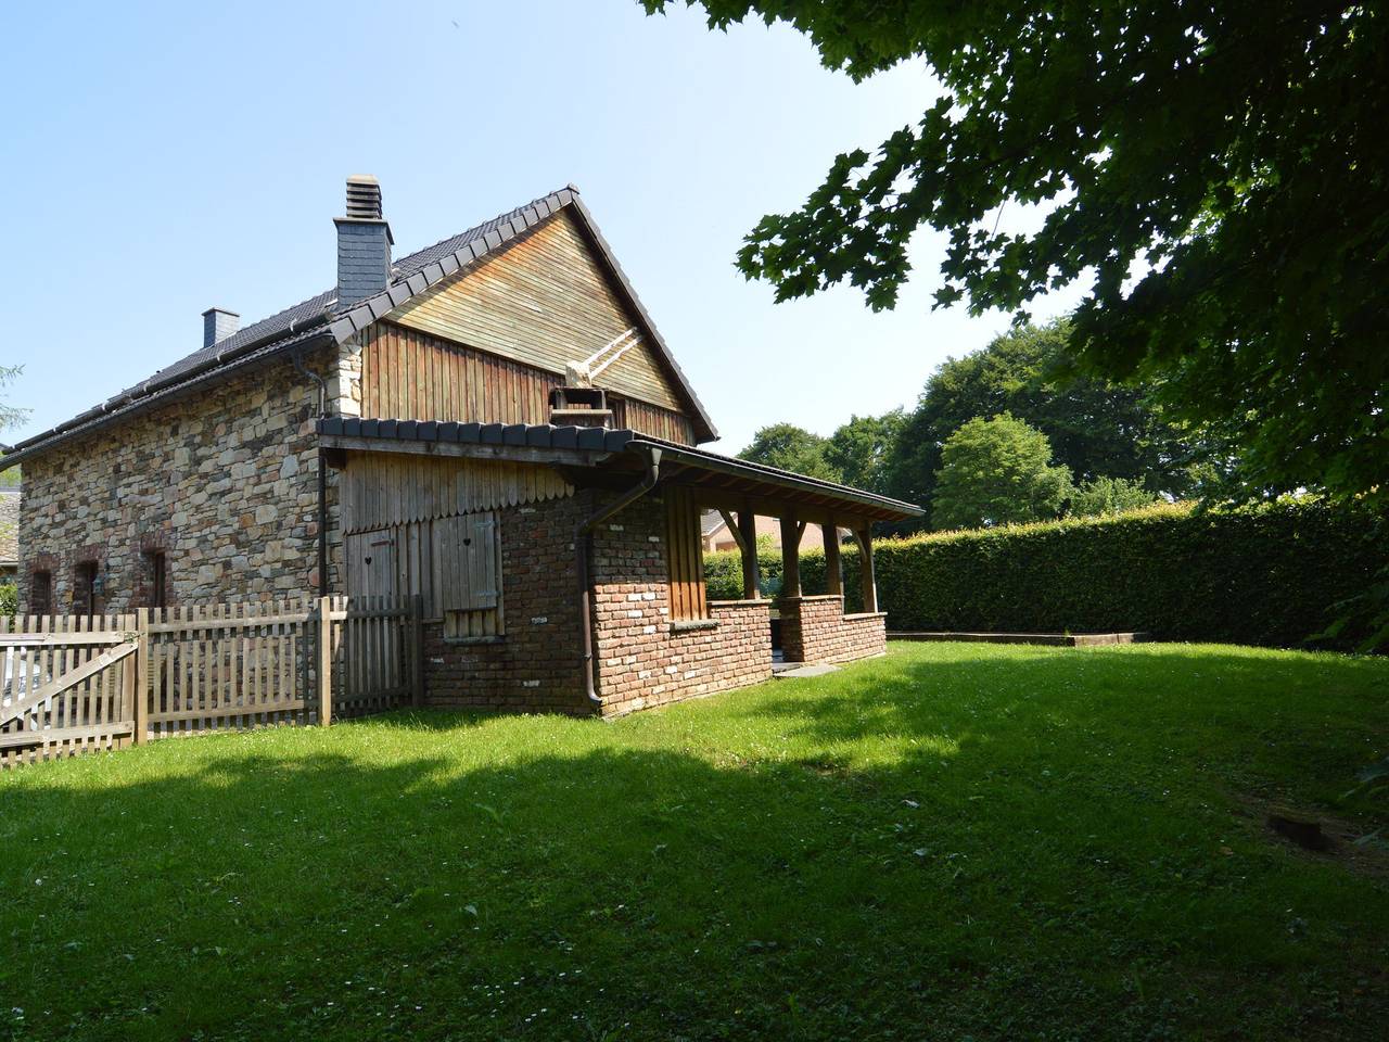
[[[856,81],[924,61],[943,88],[751,231],[738,264],[778,300],[847,281],[892,307],[924,225],[949,238],[936,306],[1025,317],[1093,279],[1078,368],[1161,377],[1174,417],[1242,446],[1245,495],[1389,502],[1382,6],[700,6],[711,28],[789,22]],[[1000,229],[1021,207],[1035,231]]]

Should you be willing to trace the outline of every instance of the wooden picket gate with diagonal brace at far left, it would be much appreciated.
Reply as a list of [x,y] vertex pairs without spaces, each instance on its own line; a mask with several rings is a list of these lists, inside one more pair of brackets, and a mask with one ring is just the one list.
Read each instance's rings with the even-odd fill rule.
[[0,617],[0,767],[135,741],[135,615]]

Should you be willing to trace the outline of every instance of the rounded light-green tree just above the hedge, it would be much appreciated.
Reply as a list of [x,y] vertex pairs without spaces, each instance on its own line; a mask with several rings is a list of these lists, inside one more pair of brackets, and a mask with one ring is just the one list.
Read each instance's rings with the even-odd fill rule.
[[974,418],[946,439],[936,477],[935,528],[979,528],[1054,518],[1071,472],[1051,465],[1040,431],[1003,413]]

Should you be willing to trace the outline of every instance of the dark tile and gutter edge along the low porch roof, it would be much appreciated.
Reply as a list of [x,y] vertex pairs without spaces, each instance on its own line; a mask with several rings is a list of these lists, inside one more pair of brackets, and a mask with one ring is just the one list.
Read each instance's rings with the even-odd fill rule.
[[318,433],[333,438],[376,439],[383,442],[456,442],[478,446],[529,446],[535,449],[568,449],[575,452],[576,465],[582,452],[647,453],[661,450],[661,461],[678,463],[692,470],[724,474],[743,481],[765,482],[789,492],[826,496],[853,503],[897,520],[921,517],[925,513],[914,503],[878,496],[872,492],[838,485],[832,481],[808,478],[747,460],[692,449],[663,438],[636,431],[606,431],[596,427],[553,427],[550,424],[453,424],[419,420],[353,420],[332,417],[318,421]]

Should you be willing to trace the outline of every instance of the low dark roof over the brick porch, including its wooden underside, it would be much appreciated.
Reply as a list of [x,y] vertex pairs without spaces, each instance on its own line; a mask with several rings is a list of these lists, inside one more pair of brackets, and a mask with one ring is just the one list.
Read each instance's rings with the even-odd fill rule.
[[318,435],[326,449],[549,464],[576,483],[585,483],[586,475],[635,479],[650,453],[660,450],[663,483],[694,488],[703,506],[751,508],[770,517],[790,507],[800,520],[822,524],[904,521],[922,514],[913,503],[628,429],[328,417],[318,421]]

